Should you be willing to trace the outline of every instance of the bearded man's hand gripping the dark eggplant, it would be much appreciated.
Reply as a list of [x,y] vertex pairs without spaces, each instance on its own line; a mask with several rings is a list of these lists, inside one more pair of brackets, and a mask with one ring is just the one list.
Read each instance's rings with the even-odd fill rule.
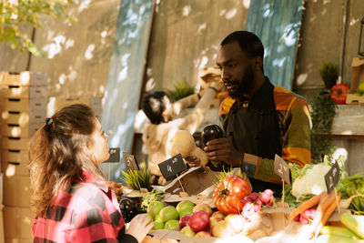
[[242,165],[241,154],[230,145],[226,137],[208,141],[204,150],[207,152],[208,160],[222,160],[233,167]]

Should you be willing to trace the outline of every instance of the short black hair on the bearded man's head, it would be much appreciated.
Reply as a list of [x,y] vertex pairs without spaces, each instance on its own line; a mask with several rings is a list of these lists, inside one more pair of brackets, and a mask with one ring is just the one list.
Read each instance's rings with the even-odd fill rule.
[[241,50],[247,53],[249,57],[254,58],[260,56],[263,60],[264,46],[257,35],[244,30],[235,31],[227,35],[220,43],[220,46],[225,46],[234,41],[238,41]]

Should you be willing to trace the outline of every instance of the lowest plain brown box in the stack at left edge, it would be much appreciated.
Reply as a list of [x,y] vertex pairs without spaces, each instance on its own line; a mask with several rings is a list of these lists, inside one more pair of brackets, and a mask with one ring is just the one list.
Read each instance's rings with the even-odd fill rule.
[[5,207],[5,238],[33,238],[34,219],[30,208]]

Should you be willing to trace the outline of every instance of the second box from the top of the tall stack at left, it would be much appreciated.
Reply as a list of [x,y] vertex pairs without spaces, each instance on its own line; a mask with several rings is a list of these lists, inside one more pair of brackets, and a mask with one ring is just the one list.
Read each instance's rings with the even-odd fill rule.
[[0,86],[0,96],[5,98],[42,98],[47,93],[46,86]]

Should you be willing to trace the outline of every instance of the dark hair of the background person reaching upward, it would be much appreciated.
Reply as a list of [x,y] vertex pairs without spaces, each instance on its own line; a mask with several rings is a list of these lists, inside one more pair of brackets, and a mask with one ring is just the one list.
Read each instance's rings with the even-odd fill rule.
[[162,113],[166,109],[164,96],[167,96],[166,92],[157,90],[150,92],[147,96],[143,97],[142,109],[153,124],[157,125],[163,122]]

